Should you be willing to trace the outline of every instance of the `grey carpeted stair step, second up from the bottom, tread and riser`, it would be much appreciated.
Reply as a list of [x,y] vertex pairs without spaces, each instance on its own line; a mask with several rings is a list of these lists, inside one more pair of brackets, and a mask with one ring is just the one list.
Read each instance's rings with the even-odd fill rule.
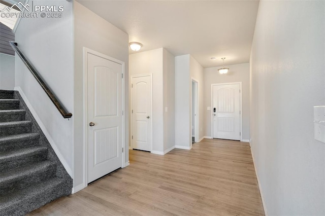
[[46,160],[20,166],[0,175],[0,194],[5,196],[16,190],[46,181],[55,176],[56,164]]

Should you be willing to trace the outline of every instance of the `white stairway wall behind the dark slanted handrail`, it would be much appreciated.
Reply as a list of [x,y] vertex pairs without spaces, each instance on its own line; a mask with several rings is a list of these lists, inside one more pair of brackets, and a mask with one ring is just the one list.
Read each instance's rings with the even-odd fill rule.
[[[15,32],[15,41],[22,53],[39,71],[72,119],[63,119],[24,63],[15,58],[15,86],[20,87],[57,149],[73,167],[73,15],[72,2],[34,1],[34,5],[63,5],[61,18],[22,18]],[[31,1],[28,2],[31,5]],[[69,172],[69,170],[67,170]],[[72,174],[72,173],[69,173]]]

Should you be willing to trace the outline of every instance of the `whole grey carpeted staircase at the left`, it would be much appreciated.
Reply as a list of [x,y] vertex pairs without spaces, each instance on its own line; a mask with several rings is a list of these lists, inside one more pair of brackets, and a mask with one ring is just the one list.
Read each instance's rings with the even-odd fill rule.
[[19,93],[0,90],[0,215],[24,215],[71,191],[72,178]]

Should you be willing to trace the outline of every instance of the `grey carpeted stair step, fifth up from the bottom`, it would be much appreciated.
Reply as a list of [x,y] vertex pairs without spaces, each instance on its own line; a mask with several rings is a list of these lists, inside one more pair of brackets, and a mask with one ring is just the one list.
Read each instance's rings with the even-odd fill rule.
[[0,137],[31,132],[31,121],[0,122]]

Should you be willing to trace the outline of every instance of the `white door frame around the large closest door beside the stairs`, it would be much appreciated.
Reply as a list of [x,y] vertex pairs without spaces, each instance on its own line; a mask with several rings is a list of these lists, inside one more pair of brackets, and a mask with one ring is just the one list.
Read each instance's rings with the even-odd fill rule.
[[84,183],[84,188],[88,186],[88,181],[87,181],[87,177],[88,177],[88,53],[107,59],[109,61],[113,61],[115,63],[121,64],[122,65],[122,148],[123,148],[123,152],[122,152],[122,166],[121,168],[125,167],[125,152],[128,150],[125,148],[125,62],[115,59],[113,57],[110,57],[108,55],[105,55],[103,53],[91,50],[89,48],[83,47],[83,63],[84,63],[84,67],[83,67],[83,80],[84,80],[84,85],[83,85],[83,99],[84,99],[84,121],[83,121],[83,132],[84,132],[84,145],[83,145],[83,151],[84,151],[84,158],[83,158],[83,169],[84,169],[84,179],[83,179],[83,183]]

